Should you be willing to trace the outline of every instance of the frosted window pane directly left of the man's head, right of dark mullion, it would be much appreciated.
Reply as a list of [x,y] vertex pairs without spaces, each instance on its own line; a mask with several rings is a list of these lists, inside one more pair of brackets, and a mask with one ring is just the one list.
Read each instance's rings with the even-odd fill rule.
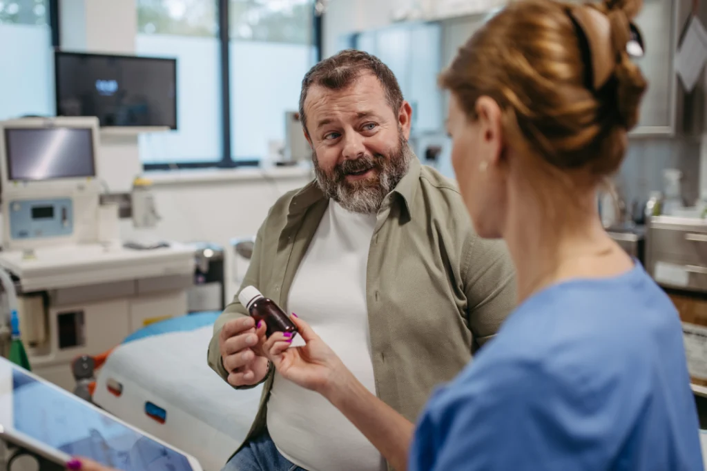
[[267,157],[282,143],[285,112],[297,111],[302,78],[315,64],[312,0],[230,0],[233,160]]

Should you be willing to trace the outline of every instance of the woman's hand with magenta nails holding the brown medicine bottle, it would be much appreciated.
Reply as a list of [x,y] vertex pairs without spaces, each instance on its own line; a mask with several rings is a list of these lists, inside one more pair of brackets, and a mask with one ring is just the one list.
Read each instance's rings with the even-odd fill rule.
[[329,391],[351,378],[351,372],[308,323],[295,314],[291,320],[306,345],[292,348],[293,338],[288,337],[287,333],[276,332],[265,338],[265,326],[259,326],[257,335],[262,352],[273,362],[281,376],[327,397]]

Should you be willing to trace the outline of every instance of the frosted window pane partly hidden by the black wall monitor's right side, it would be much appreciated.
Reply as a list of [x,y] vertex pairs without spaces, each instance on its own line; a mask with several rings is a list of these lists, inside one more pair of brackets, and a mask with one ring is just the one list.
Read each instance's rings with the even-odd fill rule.
[[141,134],[146,165],[221,160],[221,73],[214,0],[139,0],[135,52],[177,58],[177,131]]

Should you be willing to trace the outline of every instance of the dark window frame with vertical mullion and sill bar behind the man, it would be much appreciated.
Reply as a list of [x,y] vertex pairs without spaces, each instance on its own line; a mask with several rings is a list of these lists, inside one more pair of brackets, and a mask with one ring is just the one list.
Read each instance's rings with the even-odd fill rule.
[[[49,0],[49,2],[58,2],[59,0]],[[143,169],[149,170],[178,170],[178,169],[205,169],[205,168],[223,168],[233,169],[237,167],[258,167],[260,165],[259,158],[247,160],[233,160],[232,139],[230,135],[231,121],[231,106],[230,106],[230,25],[229,25],[229,0],[214,0],[218,2],[216,15],[218,18],[218,47],[219,47],[219,66],[221,67],[221,160],[207,162],[172,162],[172,163],[144,163]],[[312,4],[312,38],[313,46],[315,47],[316,60],[322,60],[322,23],[323,13],[316,11],[317,1]],[[54,10],[52,10],[54,11]],[[53,31],[53,30],[52,30]],[[58,28],[57,28],[58,31]],[[58,33],[57,33],[58,37]]]

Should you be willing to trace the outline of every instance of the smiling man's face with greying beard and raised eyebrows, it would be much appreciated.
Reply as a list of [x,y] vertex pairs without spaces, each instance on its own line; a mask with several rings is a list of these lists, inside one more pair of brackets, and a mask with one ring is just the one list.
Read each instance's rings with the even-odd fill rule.
[[343,90],[312,86],[305,114],[322,191],[354,213],[377,212],[409,167],[410,105],[393,112],[366,73]]

